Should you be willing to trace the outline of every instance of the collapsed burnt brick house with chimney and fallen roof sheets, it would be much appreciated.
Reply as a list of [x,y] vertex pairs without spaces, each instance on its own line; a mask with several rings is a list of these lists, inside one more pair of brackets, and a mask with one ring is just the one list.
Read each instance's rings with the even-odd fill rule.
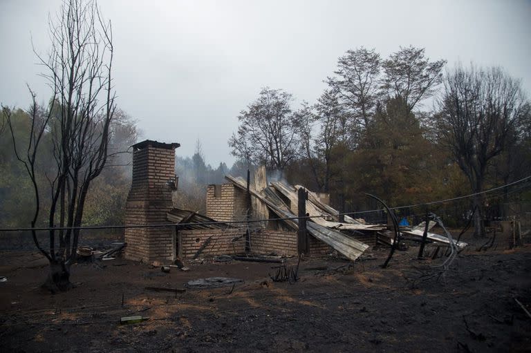
[[[131,260],[174,261],[223,254],[309,256],[338,254],[355,260],[382,236],[386,225],[366,224],[339,212],[327,195],[270,181],[265,168],[253,180],[227,175],[207,187],[207,214],[177,208],[177,143],[145,140],[133,145],[133,180],[127,198],[124,256]],[[305,217],[306,216],[306,217]],[[142,227],[142,226],[149,227]],[[159,226],[159,227],[158,227]],[[418,229],[409,234],[418,236]],[[432,241],[444,237],[429,233]]]

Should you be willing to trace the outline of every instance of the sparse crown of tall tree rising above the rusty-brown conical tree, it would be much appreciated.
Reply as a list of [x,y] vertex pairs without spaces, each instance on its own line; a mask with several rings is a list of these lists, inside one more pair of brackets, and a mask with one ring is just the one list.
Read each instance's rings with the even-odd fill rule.
[[382,63],[382,88],[390,98],[404,99],[409,111],[422,99],[433,96],[443,79],[441,71],[446,60],[429,61],[424,52],[424,48],[400,47]]

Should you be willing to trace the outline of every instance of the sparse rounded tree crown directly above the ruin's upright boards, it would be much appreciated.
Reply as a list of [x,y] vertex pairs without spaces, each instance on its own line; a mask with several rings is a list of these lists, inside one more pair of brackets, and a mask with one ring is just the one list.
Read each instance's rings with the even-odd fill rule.
[[258,99],[238,117],[238,131],[229,140],[232,155],[252,164],[285,169],[297,155],[292,100],[284,90],[263,88]]

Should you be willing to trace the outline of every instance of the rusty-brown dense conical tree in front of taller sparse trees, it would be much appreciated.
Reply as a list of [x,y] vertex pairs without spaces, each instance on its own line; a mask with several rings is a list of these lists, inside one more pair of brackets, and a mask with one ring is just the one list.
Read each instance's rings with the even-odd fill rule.
[[430,198],[426,180],[432,166],[432,146],[423,135],[420,122],[401,97],[389,99],[376,110],[371,134],[351,158],[359,171],[357,193],[385,195],[389,204],[411,204]]

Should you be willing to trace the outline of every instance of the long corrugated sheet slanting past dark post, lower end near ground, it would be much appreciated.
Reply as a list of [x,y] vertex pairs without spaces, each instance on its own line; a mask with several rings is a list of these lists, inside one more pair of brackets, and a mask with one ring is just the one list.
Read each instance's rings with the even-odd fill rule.
[[[236,185],[236,187],[239,187],[240,189],[244,190],[247,189],[247,185],[245,184],[245,182],[243,182],[243,179],[239,180],[237,178],[232,177],[231,175],[226,175],[225,178],[232,182],[234,185]],[[291,213],[290,210],[288,210],[286,205],[283,204],[283,202],[281,202],[278,197],[264,197],[263,195],[257,193],[254,188],[250,188],[250,193],[252,193],[252,195],[254,195],[257,199],[267,204],[268,207],[270,207],[271,211],[276,213],[277,216],[281,218],[296,217],[293,213]],[[267,191],[265,191],[265,193],[267,193]],[[294,226],[294,228],[297,229],[298,222],[296,219],[286,220],[286,222],[288,222],[288,224]],[[327,245],[330,245],[330,247],[337,250],[339,254],[346,256],[346,258],[349,258],[350,260],[356,260],[367,248],[369,248],[369,245],[366,245],[363,242],[350,238],[349,236],[346,236],[340,231],[328,229],[313,222],[308,222],[307,227],[308,233],[310,233],[311,236],[321,240]]]

